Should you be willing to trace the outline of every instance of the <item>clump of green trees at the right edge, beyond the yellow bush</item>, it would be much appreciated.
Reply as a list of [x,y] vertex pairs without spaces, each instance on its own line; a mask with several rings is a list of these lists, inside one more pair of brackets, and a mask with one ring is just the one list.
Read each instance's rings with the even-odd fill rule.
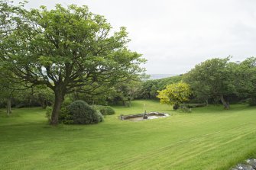
[[193,97],[208,103],[221,102],[228,109],[231,102],[248,101],[255,104],[256,58],[242,62],[225,59],[208,59],[184,75],[184,82],[190,84]]

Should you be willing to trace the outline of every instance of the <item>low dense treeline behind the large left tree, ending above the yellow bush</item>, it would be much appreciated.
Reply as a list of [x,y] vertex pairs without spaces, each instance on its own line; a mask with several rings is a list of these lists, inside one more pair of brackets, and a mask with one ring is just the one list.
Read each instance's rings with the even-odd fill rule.
[[[108,105],[108,104],[122,104],[130,106],[133,99],[157,99],[159,90],[164,89],[167,85],[180,82],[183,75],[177,75],[165,79],[154,79],[141,81],[141,79],[128,81],[126,83],[116,83],[108,91],[105,88],[97,89],[97,95],[86,93],[73,92],[66,95],[72,101],[83,100],[88,104]],[[105,91],[105,92],[104,92]],[[1,97],[0,97],[1,98]],[[47,105],[53,104],[54,95],[45,86],[36,88],[28,88],[25,90],[18,90],[11,95],[12,107],[34,107],[41,106],[45,108]],[[5,107],[7,100],[2,95],[0,100],[0,107]]]

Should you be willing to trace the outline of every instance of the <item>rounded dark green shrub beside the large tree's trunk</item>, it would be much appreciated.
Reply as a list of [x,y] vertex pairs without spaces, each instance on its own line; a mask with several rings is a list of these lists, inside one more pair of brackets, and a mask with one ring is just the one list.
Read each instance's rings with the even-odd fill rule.
[[103,120],[96,109],[89,106],[85,101],[73,101],[69,106],[69,113],[75,124],[92,124]]

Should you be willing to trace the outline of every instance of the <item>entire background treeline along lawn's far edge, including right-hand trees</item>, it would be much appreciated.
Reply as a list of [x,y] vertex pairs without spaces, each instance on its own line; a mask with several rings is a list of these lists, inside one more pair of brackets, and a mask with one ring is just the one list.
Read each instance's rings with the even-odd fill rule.
[[[190,85],[193,95],[190,103],[219,104],[225,108],[230,103],[247,102],[256,104],[256,58],[251,57],[234,63],[230,58],[208,59],[199,63],[184,75],[165,79],[141,81],[136,79],[127,83],[116,83],[115,86],[98,89],[98,95],[73,92],[66,95],[72,101],[83,100],[88,104],[108,105],[122,104],[130,106],[133,99],[157,99],[158,91],[167,85],[186,82]],[[105,91],[108,88],[108,91]],[[46,86],[37,86],[24,90],[3,89],[0,106],[5,107],[11,95],[11,105],[16,107],[39,106],[45,108],[53,104],[53,93]],[[105,92],[104,92],[105,91]]]

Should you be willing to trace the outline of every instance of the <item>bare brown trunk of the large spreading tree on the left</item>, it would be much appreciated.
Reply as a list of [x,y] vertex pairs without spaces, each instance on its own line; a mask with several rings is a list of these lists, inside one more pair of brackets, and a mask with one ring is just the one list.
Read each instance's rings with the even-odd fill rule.
[[57,125],[59,120],[59,112],[61,104],[64,100],[64,94],[62,91],[54,91],[55,93],[55,99],[53,104],[53,112],[51,114],[50,124]]

